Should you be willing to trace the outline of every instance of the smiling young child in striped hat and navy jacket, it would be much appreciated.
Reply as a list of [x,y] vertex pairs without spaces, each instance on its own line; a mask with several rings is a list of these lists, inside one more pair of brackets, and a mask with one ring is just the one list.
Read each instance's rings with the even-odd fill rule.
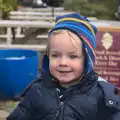
[[93,69],[97,29],[78,13],[58,16],[41,77],[7,120],[120,120],[120,96]]

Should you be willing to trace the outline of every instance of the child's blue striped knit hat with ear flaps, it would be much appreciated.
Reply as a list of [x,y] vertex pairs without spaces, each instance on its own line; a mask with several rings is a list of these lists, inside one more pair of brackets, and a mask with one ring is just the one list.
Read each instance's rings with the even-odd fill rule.
[[[87,75],[93,70],[96,49],[96,32],[97,28],[92,25],[86,17],[79,13],[71,13],[67,15],[58,16],[56,18],[55,26],[50,30],[49,35],[55,30],[66,29],[69,30],[82,40],[83,49],[86,54],[85,72]],[[49,70],[49,59],[45,55],[43,57],[43,69]]]

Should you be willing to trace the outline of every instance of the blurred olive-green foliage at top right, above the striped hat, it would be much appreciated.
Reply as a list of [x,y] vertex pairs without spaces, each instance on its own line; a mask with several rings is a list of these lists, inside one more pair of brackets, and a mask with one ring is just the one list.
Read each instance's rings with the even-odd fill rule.
[[115,19],[116,2],[117,0],[71,0],[64,7],[66,10],[79,12],[85,16],[94,16],[99,19]]

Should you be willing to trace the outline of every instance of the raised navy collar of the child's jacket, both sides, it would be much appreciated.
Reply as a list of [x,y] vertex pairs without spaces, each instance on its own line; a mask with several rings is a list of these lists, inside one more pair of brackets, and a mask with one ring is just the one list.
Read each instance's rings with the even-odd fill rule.
[[[41,78],[44,85],[48,89],[52,89],[59,86],[58,83],[56,84],[56,82],[52,80],[53,77],[48,72],[42,71]],[[87,92],[97,82],[97,78],[97,74],[95,72],[91,72],[87,76],[83,76],[83,79],[80,81],[79,84],[71,86],[70,88],[68,88],[67,91],[79,88],[80,92]]]

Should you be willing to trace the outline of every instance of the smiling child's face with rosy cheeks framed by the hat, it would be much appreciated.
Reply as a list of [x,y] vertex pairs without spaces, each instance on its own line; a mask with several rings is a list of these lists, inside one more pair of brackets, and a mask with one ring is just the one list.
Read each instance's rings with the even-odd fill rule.
[[77,82],[83,75],[82,42],[71,32],[62,31],[50,37],[49,59],[50,72],[60,84]]

